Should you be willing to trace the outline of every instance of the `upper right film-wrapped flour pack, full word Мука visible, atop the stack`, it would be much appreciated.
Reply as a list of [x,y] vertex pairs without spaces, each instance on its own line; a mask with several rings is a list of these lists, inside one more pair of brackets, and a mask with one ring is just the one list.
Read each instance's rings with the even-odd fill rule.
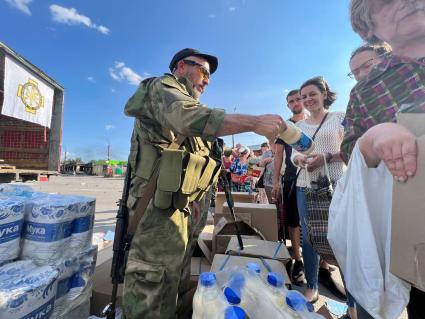
[[21,259],[51,264],[90,247],[94,198],[48,195],[31,203],[22,233]]

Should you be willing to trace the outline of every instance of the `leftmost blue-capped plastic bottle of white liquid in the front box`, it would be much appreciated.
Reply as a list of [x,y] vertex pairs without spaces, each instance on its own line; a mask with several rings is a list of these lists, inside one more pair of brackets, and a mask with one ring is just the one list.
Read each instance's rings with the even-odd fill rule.
[[213,272],[202,273],[193,296],[192,319],[217,318],[218,314],[224,313],[227,306],[222,291],[217,285],[215,274]]

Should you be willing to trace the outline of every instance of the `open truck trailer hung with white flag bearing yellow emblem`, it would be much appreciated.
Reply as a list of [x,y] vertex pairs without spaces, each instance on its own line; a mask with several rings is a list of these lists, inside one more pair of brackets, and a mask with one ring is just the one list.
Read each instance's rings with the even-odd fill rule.
[[0,182],[58,174],[64,88],[0,42]]

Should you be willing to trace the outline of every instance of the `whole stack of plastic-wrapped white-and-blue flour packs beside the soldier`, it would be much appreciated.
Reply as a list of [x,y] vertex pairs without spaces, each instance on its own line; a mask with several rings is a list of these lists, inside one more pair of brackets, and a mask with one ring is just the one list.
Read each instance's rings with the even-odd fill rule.
[[[75,309],[90,300],[97,257],[97,246],[91,245],[95,203],[95,198],[0,184],[0,266],[6,267],[0,268],[0,319],[73,319]],[[18,256],[22,260],[11,262]],[[13,285],[38,282],[34,275],[41,274],[41,280],[46,269],[55,275],[51,300],[31,302],[34,308],[26,306],[28,294],[10,295]],[[17,277],[22,274],[29,279]]]

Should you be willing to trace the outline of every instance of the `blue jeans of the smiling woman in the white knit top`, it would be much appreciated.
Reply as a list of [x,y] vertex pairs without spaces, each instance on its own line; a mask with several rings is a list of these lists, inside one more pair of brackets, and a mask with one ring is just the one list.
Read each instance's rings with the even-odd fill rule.
[[320,257],[311,245],[307,232],[307,225],[305,223],[305,220],[307,218],[308,210],[307,203],[305,200],[304,187],[297,187],[297,205],[298,214],[300,215],[301,232],[303,235],[302,248],[307,287],[311,289],[317,289],[319,286],[318,276]]

